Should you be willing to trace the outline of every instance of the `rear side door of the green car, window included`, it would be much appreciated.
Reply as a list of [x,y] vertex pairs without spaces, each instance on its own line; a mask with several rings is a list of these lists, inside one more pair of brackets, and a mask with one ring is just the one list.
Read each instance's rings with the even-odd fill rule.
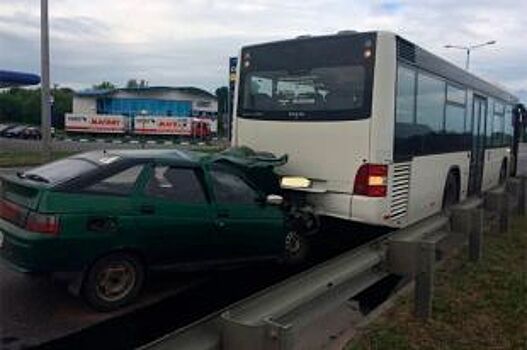
[[199,262],[214,255],[211,207],[202,179],[198,167],[152,165],[136,206],[153,264]]

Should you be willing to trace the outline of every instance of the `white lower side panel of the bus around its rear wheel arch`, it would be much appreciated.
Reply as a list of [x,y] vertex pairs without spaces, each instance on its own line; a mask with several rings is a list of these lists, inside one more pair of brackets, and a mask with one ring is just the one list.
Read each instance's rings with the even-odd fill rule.
[[409,225],[441,211],[446,178],[452,167],[459,169],[460,199],[464,200],[468,189],[469,152],[428,155],[413,159],[408,207]]

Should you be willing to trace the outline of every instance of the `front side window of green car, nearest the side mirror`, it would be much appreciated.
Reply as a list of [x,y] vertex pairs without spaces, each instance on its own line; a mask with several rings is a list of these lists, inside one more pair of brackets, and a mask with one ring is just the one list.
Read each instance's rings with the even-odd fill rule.
[[223,204],[254,204],[259,195],[242,177],[222,171],[211,171],[216,202]]

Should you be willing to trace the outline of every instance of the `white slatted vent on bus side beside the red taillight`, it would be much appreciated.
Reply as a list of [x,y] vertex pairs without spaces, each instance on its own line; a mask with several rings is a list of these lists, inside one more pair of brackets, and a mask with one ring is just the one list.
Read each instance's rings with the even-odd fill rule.
[[393,166],[390,184],[390,217],[392,220],[405,217],[408,211],[410,173],[410,163],[398,163]]

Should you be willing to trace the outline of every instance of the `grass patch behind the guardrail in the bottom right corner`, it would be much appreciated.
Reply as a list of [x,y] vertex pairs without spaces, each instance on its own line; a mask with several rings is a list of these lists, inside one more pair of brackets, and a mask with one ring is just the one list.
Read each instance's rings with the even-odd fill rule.
[[346,349],[527,349],[527,219],[484,244],[480,263],[463,251],[438,271],[431,320],[403,297]]

